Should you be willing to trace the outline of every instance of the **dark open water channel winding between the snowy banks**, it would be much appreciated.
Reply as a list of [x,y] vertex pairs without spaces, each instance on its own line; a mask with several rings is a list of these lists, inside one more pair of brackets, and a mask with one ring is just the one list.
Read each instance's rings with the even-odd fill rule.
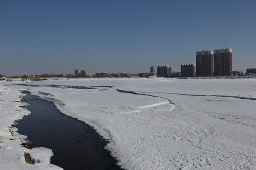
[[53,150],[51,163],[64,170],[121,170],[104,150],[107,142],[84,122],[65,116],[54,102],[23,92],[31,112],[17,125],[18,133],[28,136],[33,147]]

